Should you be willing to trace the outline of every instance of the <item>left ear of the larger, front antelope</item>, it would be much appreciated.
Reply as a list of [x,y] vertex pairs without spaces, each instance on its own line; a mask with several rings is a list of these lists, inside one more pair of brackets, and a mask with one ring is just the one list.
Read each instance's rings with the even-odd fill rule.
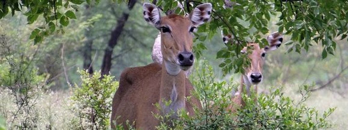
[[151,3],[144,3],[143,15],[145,21],[154,25],[156,28],[159,26],[161,15],[155,5],[152,5]]

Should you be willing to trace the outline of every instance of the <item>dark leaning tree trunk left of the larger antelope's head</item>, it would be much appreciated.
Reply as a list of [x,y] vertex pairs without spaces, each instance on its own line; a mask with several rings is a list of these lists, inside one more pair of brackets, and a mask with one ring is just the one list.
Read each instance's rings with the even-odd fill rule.
[[117,40],[120,37],[123,27],[125,26],[128,17],[129,17],[129,10],[132,10],[135,3],[137,0],[129,0],[128,2],[128,10],[125,10],[122,13],[122,16],[117,20],[117,26],[116,28],[111,32],[111,37],[108,43],[108,46],[106,46],[104,50],[104,58],[103,58],[103,63],[102,63],[102,77],[104,75],[109,75],[109,71],[111,69],[111,56],[112,56],[112,51],[115,45],[117,44]]

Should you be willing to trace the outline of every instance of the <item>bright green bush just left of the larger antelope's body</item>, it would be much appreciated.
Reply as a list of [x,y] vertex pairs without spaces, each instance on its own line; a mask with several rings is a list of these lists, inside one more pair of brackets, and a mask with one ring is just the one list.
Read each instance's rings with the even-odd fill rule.
[[112,95],[118,82],[113,76],[100,79],[100,72],[89,75],[87,71],[79,70],[81,85],[75,84],[72,100],[76,118],[72,120],[71,129],[105,130],[110,126]]

